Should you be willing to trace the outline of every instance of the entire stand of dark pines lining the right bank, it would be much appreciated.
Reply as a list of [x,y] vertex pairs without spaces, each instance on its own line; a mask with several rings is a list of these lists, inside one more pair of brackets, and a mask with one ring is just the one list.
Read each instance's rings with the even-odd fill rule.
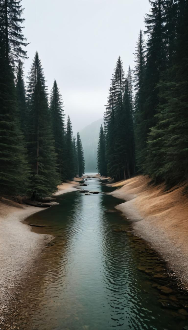
[[149,0],[135,68],[118,58],[98,144],[98,170],[115,180],[188,181],[188,1]]

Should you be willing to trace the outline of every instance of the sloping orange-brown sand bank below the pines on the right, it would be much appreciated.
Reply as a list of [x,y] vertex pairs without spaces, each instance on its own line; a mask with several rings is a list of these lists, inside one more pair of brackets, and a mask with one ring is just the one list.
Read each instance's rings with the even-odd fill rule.
[[132,220],[135,234],[151,243],[169,263],[188,289],[188,196],[185,186],[164,191],[165,186],[148,185],[148,177],[137,176],[110,186],[111,194],[126,200],[117,206]]

